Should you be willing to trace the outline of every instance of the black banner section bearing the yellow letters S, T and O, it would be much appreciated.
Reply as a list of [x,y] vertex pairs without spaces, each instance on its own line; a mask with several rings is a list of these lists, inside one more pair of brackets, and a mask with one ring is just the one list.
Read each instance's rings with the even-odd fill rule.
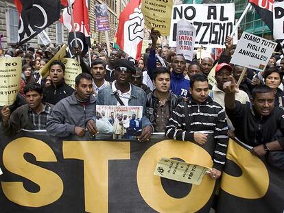
[[1,212],[209,212],[215,188],[209,176],[200,186],[154,176],[162,157],[212,166],[205,149],[161,136],[151,142],[3,137]]

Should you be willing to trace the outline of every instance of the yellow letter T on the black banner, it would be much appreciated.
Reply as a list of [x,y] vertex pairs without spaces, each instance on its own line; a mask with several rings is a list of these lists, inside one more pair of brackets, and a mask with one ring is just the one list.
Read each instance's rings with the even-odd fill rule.
[[86,212],[108,212],[108,160],[130,159],[130,142],[64,141],[63,155],[84,160]]

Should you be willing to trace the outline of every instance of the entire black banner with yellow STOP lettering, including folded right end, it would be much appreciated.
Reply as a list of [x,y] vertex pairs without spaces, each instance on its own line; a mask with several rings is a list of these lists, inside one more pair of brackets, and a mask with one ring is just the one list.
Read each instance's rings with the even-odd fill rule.
[[[209,212],[215,180],[200,186],[154,175],[161,158],[212,166],[213,145],[1,133],[1,212]],[[230,140],[217,212],[283,212],[284,172]]]

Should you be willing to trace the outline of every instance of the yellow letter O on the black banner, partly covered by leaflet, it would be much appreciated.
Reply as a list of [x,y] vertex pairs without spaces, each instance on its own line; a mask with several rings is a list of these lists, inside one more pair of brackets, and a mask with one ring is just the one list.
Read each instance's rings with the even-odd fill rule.
[[163,140],[143,154],[137,169],[137,184],[145,202],[157,212],[197,212],[210,199],[215,181],[208,175],[200,186],[192,185],[187,197],[176,199],[167,195],[161,178],[154,176],[154,169],[161,158],[180,158],[191,164],[212,167],[212,158],[207,151],[191,142]]

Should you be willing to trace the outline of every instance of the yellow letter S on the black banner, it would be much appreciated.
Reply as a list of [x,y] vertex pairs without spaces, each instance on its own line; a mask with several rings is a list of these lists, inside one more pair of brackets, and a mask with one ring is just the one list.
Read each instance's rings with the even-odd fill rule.
[[5,168],[38,184],[40,190],[29,192],[22,182],[1,182],[5,196],[14,203],[28,207],[40,207],[58,200],[63,192],[62,179],[52,171],[27,162],[23,158],[25,153],[32,153],[40,162],[57,162],[54,151],[45,142],[25,137],[13,140],[3,151]]

